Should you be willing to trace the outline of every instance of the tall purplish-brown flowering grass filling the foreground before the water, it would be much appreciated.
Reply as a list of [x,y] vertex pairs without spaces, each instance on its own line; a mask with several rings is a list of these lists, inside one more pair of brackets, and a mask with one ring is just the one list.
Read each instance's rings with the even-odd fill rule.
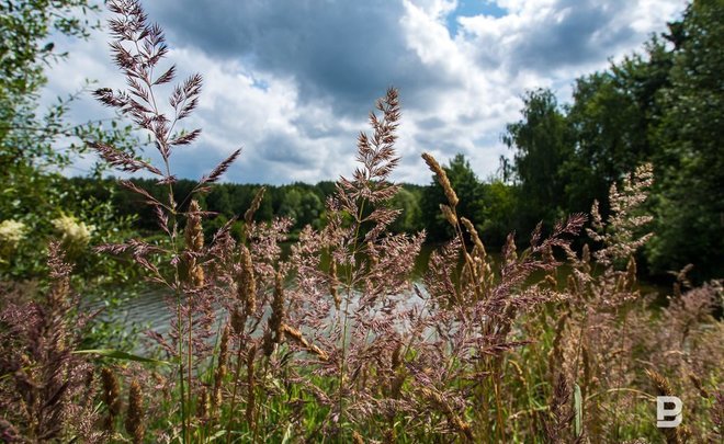
[[[78,353],[84,317],[66,303],[69,269],[53,250],[52,282],[3,289],[0,430],[9,442],[653,442],[722,437],[724,328],[712,312],[722,284],[688,288],[681,275],[668,306],[636,286],[635,252],[649,237],[643,214],[651,168],[612,187],[613,215],[593,207],[591,247],[572,240],[587,224],[573,215],[520,249],[509,236],[499,261],[439,163],[425,161],[445,192],[441,212],[455,237],[412,281],[425,234],[393,235],[398,186],[394,144],[400,119],[391,89],[358,138],[358,169],[327,202],[326,225],[307,227],[283,257],[291,221],[257,223],[263,189],[244,215],[204,239],[199,202],[239,156],[173,200],[169,159],[199,129],[178,128],[202,79],[171,89],[161,29],[136,1],[111,1],[114,61],[128,89],[97,96],[155,139],[161,164],[102,144],[124,171],[145,171],[168,190],[151,205],[168,241],[131,239],[99,248],[131,257],[148,285],[167,288],[172,328],[149,333],[159,360]],[[462,196],[464,198],[465,196]],[[573,273],[561,273],[564,263]],[[595,273],[595,269],[600,272]],[[543,272],[541,274],[541,272]],[[534,276],[543,275],[535,278]],[[566,276],[566,277],[563,277]],[[565,278],[565,282],[559,282]],[[531,282],[533,281],[533,282]],[[12,303],[11,303],[12,301]],[[218,311],[217,308],[222,307]],[[31,321],[23,318],[30,312]],[[219,315],[220,312],[220,315]],[[144,362],[146,361],[146,362]],[[659,433],[654,399],[683,400],[683,423]],[[125,399],[125,401],[124,401]]]

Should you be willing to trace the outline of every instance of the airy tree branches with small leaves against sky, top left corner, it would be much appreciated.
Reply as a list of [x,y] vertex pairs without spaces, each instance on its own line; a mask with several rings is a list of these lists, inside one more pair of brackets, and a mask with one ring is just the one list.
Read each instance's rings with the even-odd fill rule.
[[4,180],[19,179],[14,175],[29,169],[67,164],[69,156],[54,149],[52,141],[90,130],[64,123],[67,101],[59,100],[45,115],[36,110],[46,83],[44,69],[67,56],[48,42],[50,33],[86,38],[90,29],[99,26],[86,13],[97,10],[87,0],[0,4],[0,174]]

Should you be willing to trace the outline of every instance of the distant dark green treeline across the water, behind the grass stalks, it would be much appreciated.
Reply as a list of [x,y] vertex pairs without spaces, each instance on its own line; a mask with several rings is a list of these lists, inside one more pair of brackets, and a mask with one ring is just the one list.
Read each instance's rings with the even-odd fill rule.
[[[502,244],[507,234],[514,228],[516,186],[500,180],[480,181],[464,156],[457,155],[443,167],[461,195],[460,213],[478,220],[478,228],[486,243],[491,248]],[[137,216],[134,226],[145,234],[159,230],[151,206],[145,205],[138,194],[115,185],[115,179],[98,180],[93,178],[69,178],[67,186],[73,190],[73,198],[111,202],[121,216]],[[149,179],[133,179],[134,184],[147,190],[159,201],[166,200],[168,189],[159,186]],[[173,198],[181,204],[196,185],[195,181],[181,179],[174,183]],[[201,195],[200,204],[208,212],[216,213],[205,225],[207,235],[212,235],[231,218],[240,218],[249,208],[251,201],[261,187],[265,187],[263,200],[254,214],[256,220],[271,220],[274,217],[290,217],[294,220],[293,232],[298,232],[306,225],[321,227],[325,216],[325,202],[335,192],[335,183],[321,181],[317,184],[293,183],[289,185],[261,185],[220,183]],[[429,242],[450,239],[450,224],[440,213],[440,203],[444,194],[437,182],[429,185],[404,183],[389,206],[400,209],[400,215],[392,224],[392,232],[417,232],[425,229]],[[237,231],[240,228],[237,223]]]

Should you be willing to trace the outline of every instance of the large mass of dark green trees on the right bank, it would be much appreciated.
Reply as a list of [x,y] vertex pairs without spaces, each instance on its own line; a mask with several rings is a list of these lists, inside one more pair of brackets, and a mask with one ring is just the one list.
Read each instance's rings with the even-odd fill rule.
[[539,218],[580,212],[600,202],[631,166],[653,162],[651,208],[656,237],[646,249],[649,272],[694,264],[695,282],[719,277],[722,257],[721,1],[694,1],[669,34],[645,55],[576,81],[573,103],[550,91],[524,100],[523,118],[504,140],[516,150],[520,229]]

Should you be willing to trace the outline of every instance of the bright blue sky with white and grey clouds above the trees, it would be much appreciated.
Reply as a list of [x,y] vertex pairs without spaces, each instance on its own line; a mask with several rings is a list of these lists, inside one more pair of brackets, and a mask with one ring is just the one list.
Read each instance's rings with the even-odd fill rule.
[[[570,99],[576,78],[641,52],[666,31],[683,0],[152,0],[149,21],[166,31],[179,80],[204,78],[185,127],[202,128],[171,158],[197,179],[237,148],[223,180],[316,183],[350,177],[355,140],[389,87],[403,118],[393,179],[431,180],[420,155],[441,162],[463,153],[480,179],[495,174],[506,124],[520,119],[527,91]],[[82,88],[124,88],[108,35],[63,39],[66,61],[48,71],[43,100]],[[161,91],[161,94],[168,91]],[[109,117],[90,94],[70,119]],[[152,152],[148,157],[156,158]],[[91,158],[70,173],[82,173]]]

